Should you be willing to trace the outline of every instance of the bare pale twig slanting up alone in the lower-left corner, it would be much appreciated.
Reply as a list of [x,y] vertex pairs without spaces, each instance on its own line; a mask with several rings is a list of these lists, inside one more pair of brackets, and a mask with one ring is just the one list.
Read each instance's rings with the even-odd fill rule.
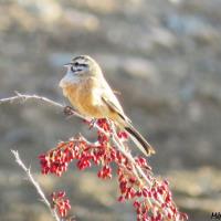
[[49,202],[49,200],[46,199],[43,190],[41,189],[40,185],[36,182],[36,180],[33,178],[32,173],[31,173],[31,170],[30,168],[27,168],[27,166],[23,164],[23,161],[21,160],[20,156],[19,156],[19,152],[17,150],[11,150],[11,152],[13,154],[14,158],[15,158],[15,162],[24,170],[25,175],[27,175],[27,178],[29,179],[29,181],[33,185],[33,187],[35,188],[38,194],[41,197],[43,203],[49,208],[51,214],[53,215],[53,218],[56,220],[56,221],[62,221],[60,218],[59,218],[59,214],[56,213],[55,210],[53,210],[51,208],[51,204]]

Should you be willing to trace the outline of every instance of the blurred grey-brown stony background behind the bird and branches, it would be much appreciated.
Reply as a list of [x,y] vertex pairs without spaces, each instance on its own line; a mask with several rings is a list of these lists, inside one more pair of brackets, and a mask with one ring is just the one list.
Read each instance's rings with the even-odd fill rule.
[[[170,181],[180,210],[210,220],[221,208],[220,9],[220,0],[0,0],[0,97],[18,91],[64,103],[63,64],[92,55],[156,147],[150,165]],[[40,173],[38,156],[80,131],[93,139],[80,119],[50,106],[0,106],[2,221],[52,220],[10,149],[45,193],[67,190],[76,220],[135,220],[131,204],[116,202],[116,179],[101,181],[96,169]]]

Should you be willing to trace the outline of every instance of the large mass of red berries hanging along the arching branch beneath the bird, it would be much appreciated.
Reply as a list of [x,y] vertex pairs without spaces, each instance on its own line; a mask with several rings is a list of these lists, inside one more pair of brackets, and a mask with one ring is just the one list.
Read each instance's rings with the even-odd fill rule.
[[[106,119],[98,119],[96,125],[98,126],[96,143],[90,143],[78,136],[69,141],[62,141],[56,148],[41,155],[42,173],[61,176],[75,159],[80,170],[90,168],[93,164],[98,165],[101,169],[97,176],[101,179],[109,179],[113,176],[110,165],[114,164],[117,166],[120,192],[118,201],[134,201],[137,221],[187,220],[187,215],[180,213],[172,201],[168,182],[152,176],[147,160],[136,157],[131,161],[118,150],[112,143],[113,131]],[[128,135],[119,131],[117,137],[126,148],[125,140]],[[141,175],[138,168],[143,171]]]

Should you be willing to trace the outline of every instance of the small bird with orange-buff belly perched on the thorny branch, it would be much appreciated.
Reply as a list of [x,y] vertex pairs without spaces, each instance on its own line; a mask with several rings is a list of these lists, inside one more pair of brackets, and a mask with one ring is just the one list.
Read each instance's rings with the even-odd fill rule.
[[67,71],[59,86],[72,106],[83,116],[107,118],[126,130],[145,156],[155,154],[151,145],[133,126],[104,77],[99,64],[90,55],[78,55],[64,65]]

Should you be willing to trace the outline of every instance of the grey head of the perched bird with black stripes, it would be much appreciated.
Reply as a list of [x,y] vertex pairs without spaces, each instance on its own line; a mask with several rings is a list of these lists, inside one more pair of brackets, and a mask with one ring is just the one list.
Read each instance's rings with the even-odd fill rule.
[[99,76],[102,70],[97,62],[88,55],[80,55],[64,66],[67,67],[65,76],[61,80],[60,86],[64,87],[67,84],[78,83],[81,80]]

